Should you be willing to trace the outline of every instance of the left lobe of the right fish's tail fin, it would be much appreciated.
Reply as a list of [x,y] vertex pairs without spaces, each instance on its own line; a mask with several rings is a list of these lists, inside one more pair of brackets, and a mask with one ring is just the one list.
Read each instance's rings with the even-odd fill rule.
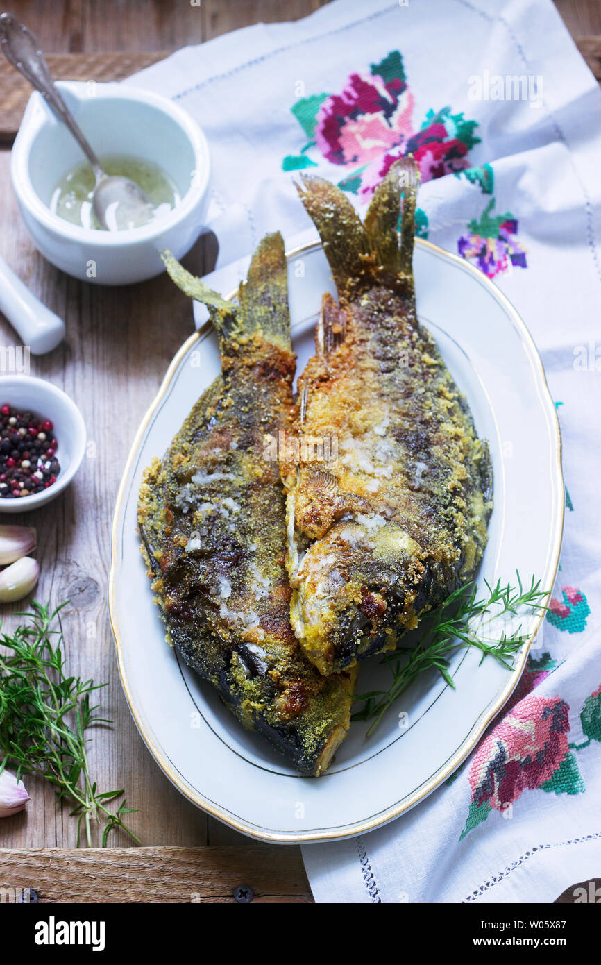
[[341,292],[360,285],[366,273],[368,235],[355,208],[340,187],[314,175],[302,175],[299,197],[314,222]]

